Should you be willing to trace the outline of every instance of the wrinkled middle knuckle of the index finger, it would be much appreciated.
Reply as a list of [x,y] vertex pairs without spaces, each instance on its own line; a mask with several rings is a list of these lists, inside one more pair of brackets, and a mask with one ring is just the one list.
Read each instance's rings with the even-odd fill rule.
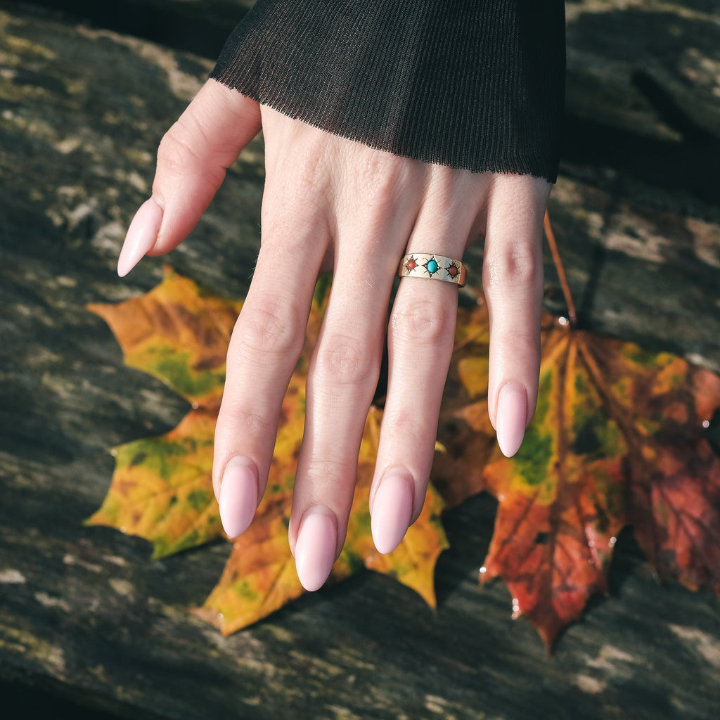
[[235,325],[239,347],[259,354],[288,355],[300,350],[304,328],[280,308],[244,307]]

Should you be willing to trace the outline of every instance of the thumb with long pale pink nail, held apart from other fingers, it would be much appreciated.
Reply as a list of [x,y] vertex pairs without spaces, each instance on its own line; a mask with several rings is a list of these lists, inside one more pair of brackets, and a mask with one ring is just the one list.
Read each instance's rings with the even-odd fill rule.
[[215,80],[204,84],[161,140],[153,196],[132,219],[117,261],[121,277],[144,255],[167,253],[192,232],[260,125],[254,100]]

